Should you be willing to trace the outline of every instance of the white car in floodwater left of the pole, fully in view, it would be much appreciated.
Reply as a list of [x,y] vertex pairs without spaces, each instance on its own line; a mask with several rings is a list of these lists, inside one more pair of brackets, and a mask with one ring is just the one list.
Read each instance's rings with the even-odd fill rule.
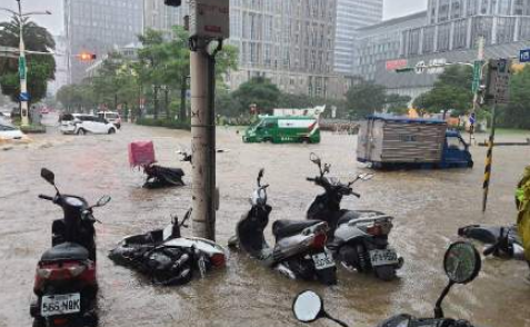
[[66,113],[61,117],[62,133],[86,135],[91,133],[114,133],[117,128],[104,118],[93,115]]

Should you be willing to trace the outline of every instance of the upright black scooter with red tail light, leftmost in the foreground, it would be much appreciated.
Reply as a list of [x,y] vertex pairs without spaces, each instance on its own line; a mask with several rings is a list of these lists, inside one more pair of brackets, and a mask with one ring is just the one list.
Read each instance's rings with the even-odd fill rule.
[[52,171],[42,168],[41,177],[56,188],[56,196],[39,195],[62,208],[64,217],[53,221],[52,248],[39,260],[33,293],[37,300],[30,314],[34,327],[96,326],[96,229],[93,208],[110,201],[104,196],[93,206],[87,200],[62,195],[54,182]]

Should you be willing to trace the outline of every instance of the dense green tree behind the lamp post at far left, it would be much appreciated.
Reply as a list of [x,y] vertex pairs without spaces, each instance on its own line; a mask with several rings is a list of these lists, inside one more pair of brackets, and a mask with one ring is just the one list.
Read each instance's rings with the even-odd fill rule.
[[[13,18],[10,22],[0,23],[1,46],[19,48],[19,28],[23,26],[26,50],[49,52],[56,48],[53,37],[42,27],[29,21]],[[54,79],[56,60],[53,56],[27,53],[28,92],[31,103],[39,102],[46,97],[48,81]],[[19,102],[20,77],[18,59],[0,57],[0,87],[2,93],[9,96],[13,102]]]

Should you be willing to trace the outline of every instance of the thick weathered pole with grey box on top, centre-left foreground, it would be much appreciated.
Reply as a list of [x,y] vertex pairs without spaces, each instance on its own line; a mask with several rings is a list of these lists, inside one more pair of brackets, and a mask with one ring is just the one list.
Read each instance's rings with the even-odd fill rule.
[[189,6],[193,235],[214,240],[216,54],[230,37],[230,1],[190,0]]

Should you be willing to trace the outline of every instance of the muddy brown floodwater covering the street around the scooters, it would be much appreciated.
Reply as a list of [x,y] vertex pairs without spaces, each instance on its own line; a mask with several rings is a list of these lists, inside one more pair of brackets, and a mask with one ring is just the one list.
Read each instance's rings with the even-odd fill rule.
[[[306,181],[318,172],[309,161],[311,151],[330,162],[331,174],[343,180],[369,171],[356,162],[354,136],[323,133],[320,145],[246,145],[233,128],[219,128],[217,135],[218,148],[229,150],[218,155],[217,168],[221,192],[217,231],[223,246],[250,208],[248,198],[261,167],[273,208],[266,230],[270,242],[274,219],[304,219],[306,208],[321,192]],[[396,217],[390,242],[406,264],[393,283],[343,269],[334,287],[293,281],[232,251],[224,271],[164,288],[116,266],[107,252],[123,236],[162,227],[171,214],[181,217],[189,208],[191,167],[179,162],[174,151],[190,147],[190,133],[124,125],[117,135],[62,136],[50,128],[47,135],[32,138],[30,145],[0,150],[0,327],[31,325],[34,266],[50,246],[52,220],[62,215],[59,207],[37,198],[53,194],[40,178],[42,167],[56,172],[63,192],[89,202],[106,194],[112,197],[108,206],[94,210],[103,222],[97,225],[100,326],[299,326],[291,313],[292,299],[311,288],[322,295],[330,314],[351,326],[368,327],[399,313],[432,316],[447,283],[443,252],[458,239],[457,229],[469,224],[513,222],[514,186],[530,164],[530,147],[494,149],[486,215],[481,212],[486,148],[472,148],[473,169],[378,172],[359,184],[362,198],[344,199],[343,208],[377,209]],[[514,138],[522,140],[523,136]],[[128,162],[127,146],[133,140],[153,140],[159,162],[181,167],[187,186],[142,189],[142,172]],[[191,229],[183,234],[190,235]],[[454,287],[444,303],[446,315],[477,326],[530,327],[530,285],[523,281],[528,272],[520,261],[486,259],[472,284]],[[314,326],[333,325],[321,320]]]

